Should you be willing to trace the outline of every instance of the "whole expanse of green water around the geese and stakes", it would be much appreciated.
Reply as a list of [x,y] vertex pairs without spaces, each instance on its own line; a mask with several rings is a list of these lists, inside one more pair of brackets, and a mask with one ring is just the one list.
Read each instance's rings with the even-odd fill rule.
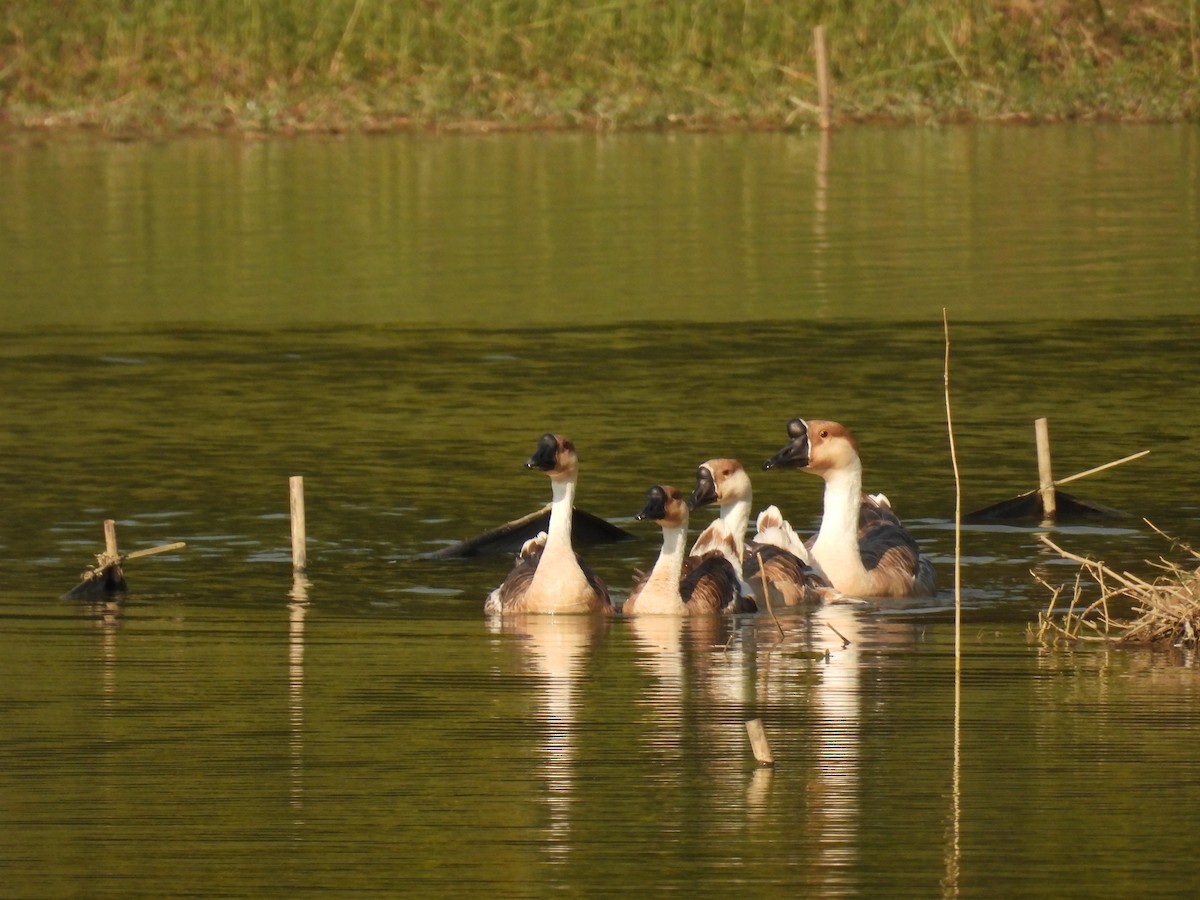
[[[10,143],[0,166],[0,895],[1190,895],[1193,654],[1026,640],[1074,569],[964,506],[1150,449],[1055,540],[1196,541],[1200,132]],[[858,436],[943,590],[738,622],[490,625],[421,553],[580,446],[618,595],[644,490]],[[305,476],[293,583],[287,481]],[[60,594],[115,518],[119,604]],[[846,644],[842,637],[848,638]],[[779,764],[758,770],[744,722]]]

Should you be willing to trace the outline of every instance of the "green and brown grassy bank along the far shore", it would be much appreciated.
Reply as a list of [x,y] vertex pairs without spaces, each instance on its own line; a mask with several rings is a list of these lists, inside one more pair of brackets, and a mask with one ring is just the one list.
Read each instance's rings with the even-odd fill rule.
[[17,127],[1200,120],[1198,0],[0,0]]

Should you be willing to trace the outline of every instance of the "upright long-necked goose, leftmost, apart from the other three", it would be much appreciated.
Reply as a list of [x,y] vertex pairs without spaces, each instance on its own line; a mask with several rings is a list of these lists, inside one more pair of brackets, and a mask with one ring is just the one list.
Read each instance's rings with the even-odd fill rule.
[[526,468],[550,475],[548,530],[526,541],[504,583],[487,595],[484,611],[490,616],[613,612],[608,588],[571,548],[580,468],[575,444],[562,434],[542,434]]

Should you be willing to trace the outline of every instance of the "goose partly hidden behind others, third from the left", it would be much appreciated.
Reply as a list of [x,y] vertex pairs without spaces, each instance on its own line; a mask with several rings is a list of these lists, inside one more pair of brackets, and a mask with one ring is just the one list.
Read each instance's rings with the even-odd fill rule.
[[743,592],[756,602],[767,599],[760,565],[767,574],[770,599],[781,600],[786,606],[820,601],[829,586],[814,571],[808,550],[776,506],[768,506],[760,515],[755,544],[746,547],[752,499],[750,475],[740,462],[728,458],[702,462],[696,469],[696,488],[688,503],[692,509],[718,503],[721,514],[696,539],[691,552],[706,552],[720,540],[732,540],[731,562],[742,578]]

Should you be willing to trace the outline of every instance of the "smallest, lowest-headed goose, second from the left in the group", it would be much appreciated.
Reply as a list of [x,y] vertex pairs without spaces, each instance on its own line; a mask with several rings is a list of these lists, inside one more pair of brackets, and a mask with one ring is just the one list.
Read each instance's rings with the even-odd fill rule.
[[634,584],[622,607],[625,614],[698,616],[721,611],[740,612],[738,576],[720,551],[702,557],[685,556],[688,502],[670,485],[646,492],[638,521],[652,518],[662,528],[662,550],[650,569]]

